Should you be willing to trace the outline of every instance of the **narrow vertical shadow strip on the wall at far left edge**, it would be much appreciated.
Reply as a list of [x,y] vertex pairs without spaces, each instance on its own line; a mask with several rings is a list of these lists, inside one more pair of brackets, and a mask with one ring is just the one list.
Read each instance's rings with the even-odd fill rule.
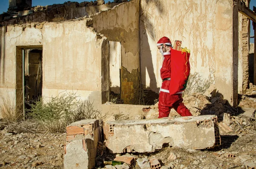
[[0,28],[0,81],[4,83],[4,69],[5,69],[5,29],[6,27]]

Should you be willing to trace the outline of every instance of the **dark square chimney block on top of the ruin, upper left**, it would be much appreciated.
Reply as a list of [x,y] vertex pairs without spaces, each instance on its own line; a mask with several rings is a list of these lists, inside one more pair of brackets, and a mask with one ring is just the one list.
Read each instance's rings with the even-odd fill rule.
[[23,11],[27,7],[32,7],[32,0],[9,0],[8,11]]

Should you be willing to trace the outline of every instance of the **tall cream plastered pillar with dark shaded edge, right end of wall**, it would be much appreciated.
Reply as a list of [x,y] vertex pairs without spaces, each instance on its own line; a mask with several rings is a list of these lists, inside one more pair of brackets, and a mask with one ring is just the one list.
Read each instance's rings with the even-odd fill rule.
[[215,14],[215,87],[230,105],[238,103],[238,6],[218,0]]

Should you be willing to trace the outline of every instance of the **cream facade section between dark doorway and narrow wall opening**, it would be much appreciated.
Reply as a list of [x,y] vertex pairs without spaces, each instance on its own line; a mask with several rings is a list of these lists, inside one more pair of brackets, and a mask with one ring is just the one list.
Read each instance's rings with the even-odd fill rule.
[[[88,20],[45,23],[43,34],[43,96],[76,92],[101,105],[102,42]],[[100,39],[102,38],[102,39]]]

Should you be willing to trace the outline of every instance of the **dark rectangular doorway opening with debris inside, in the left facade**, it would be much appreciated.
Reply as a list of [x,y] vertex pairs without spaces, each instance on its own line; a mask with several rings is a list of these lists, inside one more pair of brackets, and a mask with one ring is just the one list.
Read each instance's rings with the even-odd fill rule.
[[29,105],[42,97],[42,57],[42,46],[16,47],[16,103],[22,95],[23,117]]

